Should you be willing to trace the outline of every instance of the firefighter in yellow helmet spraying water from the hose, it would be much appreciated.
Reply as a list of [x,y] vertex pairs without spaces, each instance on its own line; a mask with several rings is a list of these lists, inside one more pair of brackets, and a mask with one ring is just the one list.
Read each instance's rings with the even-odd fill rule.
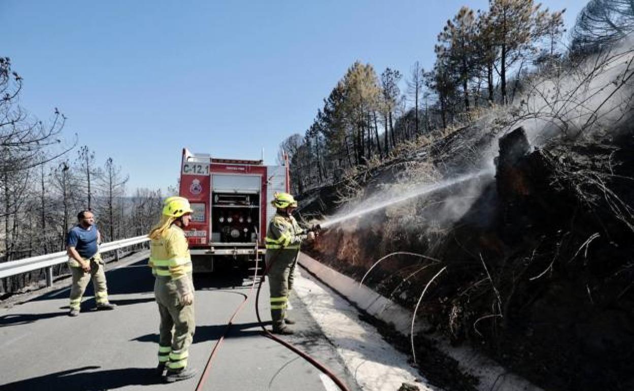
[[305,231],[297,224],[292,213],[297,202],[288,193],[275,193],[271,202],[277,213],[269,222],[266,233],[266,262],[269,267],[269,289],[271,292],[271,319],[273,333],[290,335],[293,331],[286,324],[294,321],[286,317],[290,273],[297,262],[302,241],[314,239],[314,233]]

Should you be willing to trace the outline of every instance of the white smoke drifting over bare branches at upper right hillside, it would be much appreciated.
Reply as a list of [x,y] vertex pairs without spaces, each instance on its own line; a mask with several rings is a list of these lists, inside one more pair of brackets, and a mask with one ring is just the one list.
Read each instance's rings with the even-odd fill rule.
[[629,119],[634,86],[634,38],[577,63],[552,67],[522,82],[508,130],[522,126],[535,146],[553,137],[614,131]]

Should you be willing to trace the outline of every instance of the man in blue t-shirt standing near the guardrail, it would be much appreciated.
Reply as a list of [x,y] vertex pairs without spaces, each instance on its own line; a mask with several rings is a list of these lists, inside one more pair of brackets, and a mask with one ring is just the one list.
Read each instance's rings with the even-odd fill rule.
[[114,309],[116,307],[115,304],[108,302],[106,274],[103,271],[103,260],[98,247],[101,243],[101,234],[94,226],[94,214],[89,210],[82,210],[77,214],[77,220],[79,224],[68,232],[66,240],[68,266],[73,276],[68,316],[79,315],[81,298],[91,278],[93,279],[97,309]]

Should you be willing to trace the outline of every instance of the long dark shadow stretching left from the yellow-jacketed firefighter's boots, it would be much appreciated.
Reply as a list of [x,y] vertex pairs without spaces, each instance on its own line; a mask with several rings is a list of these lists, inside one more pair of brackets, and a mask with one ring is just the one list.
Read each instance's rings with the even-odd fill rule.
[[0,385],[0,391],[48,390],[48,391],[91,391],[114,390],[129,385],[153,385],[162,383],[155,368],[108,369],[107,371],[90,371],[98,366],[69,369],[38,376],[26,380]]

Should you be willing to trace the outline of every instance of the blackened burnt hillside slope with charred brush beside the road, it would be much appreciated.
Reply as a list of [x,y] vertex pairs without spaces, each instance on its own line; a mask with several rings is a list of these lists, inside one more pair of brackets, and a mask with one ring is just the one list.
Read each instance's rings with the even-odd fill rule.
[[365,282],[413,308],[446,266],[418,311],[436,331],[548,390],[631,390],[634,128],[536,148],[522,128],[498,140],[480,125],[302,195],[302,214],[330,215],[420,177],[495,166],[335,224],[309,252],[358,279],[392,252],[432,257],[394,255]]

